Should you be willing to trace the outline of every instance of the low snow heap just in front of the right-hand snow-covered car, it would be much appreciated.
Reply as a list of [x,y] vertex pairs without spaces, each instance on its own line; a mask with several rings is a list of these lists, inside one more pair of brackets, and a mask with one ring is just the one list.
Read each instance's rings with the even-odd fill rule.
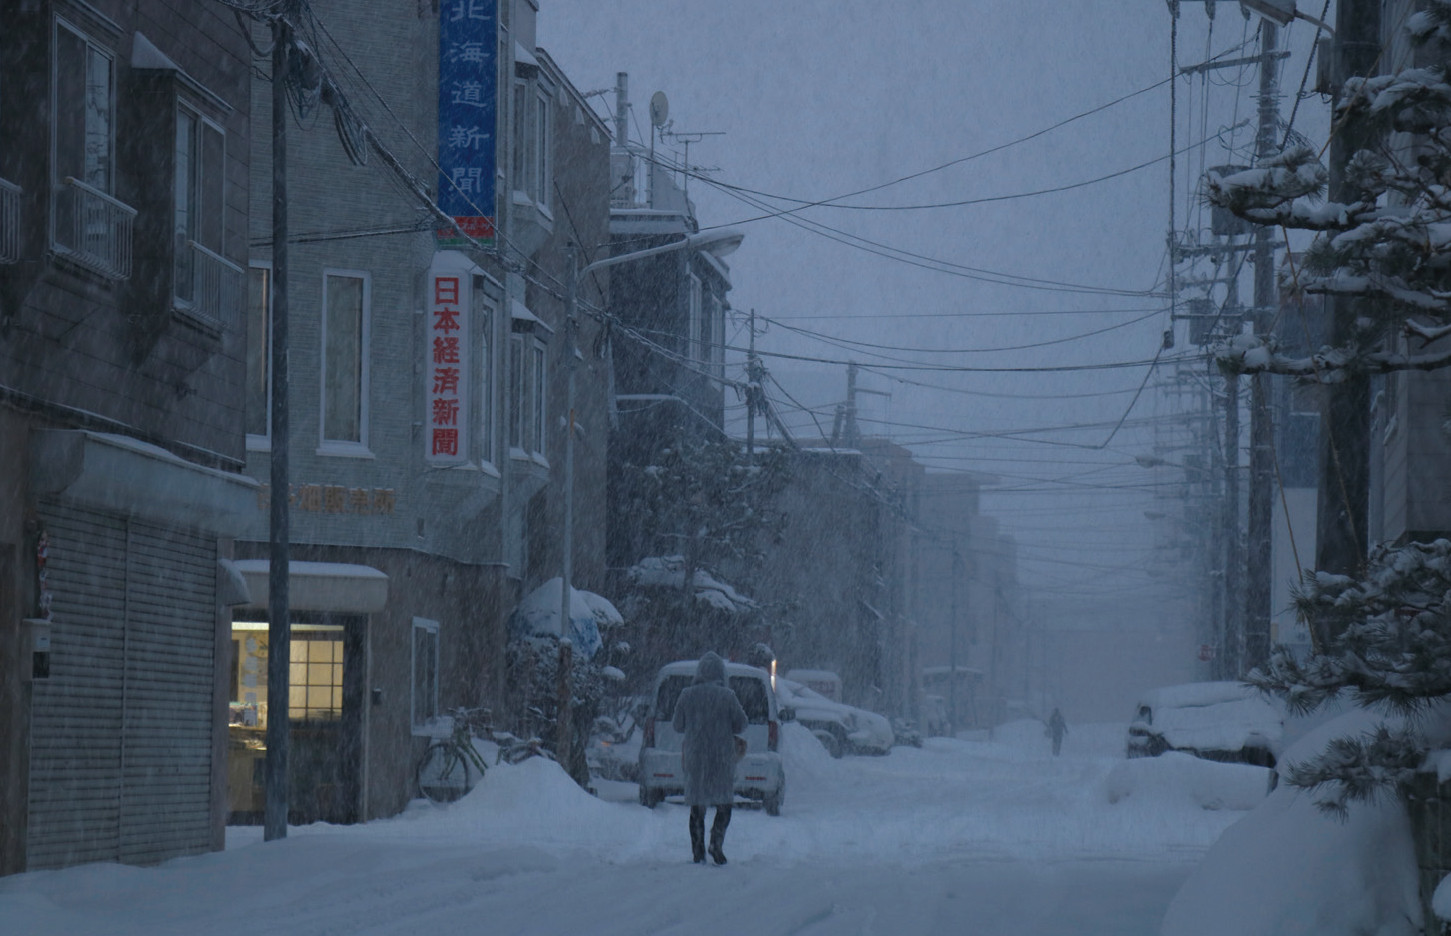
[[1109,802],[1139,800],[1185,801],[1204,810],[1252,810],[1270,791],[1267,768],[1217,763],[1171,750],[1159,758],[1135,758],[1114,765],[1104,779]]

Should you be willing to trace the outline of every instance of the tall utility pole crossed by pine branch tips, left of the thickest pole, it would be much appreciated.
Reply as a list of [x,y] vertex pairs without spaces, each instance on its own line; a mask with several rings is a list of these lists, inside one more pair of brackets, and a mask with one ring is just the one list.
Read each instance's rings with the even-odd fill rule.
[[[1255,155],[1261,163],[1278,151],[1280,107],[1275,87],[1275,38],[1278,28],[1259,23],[1259,132]],[[1274,231],[1255,226],[1255,335],[1267,337],[1274,327]],[[1244,643],[1238,672],[1244,675],[1270,660],[1271,544],[1274,540],[1274,416],[1270,411],[1268,374],[1249,379],[1249,549],[1245,572]]]

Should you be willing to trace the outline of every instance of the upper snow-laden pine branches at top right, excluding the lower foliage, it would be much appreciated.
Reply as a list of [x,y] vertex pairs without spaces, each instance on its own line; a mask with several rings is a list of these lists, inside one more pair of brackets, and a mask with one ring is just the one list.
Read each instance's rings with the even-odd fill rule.
[[1439,62],[1345,83],[1335,125],[1362,120],[1386,141],[1351,157],[1348,200],[1325,200],[1329,174],[1307,145],[1287,147],[1249,170],[1206,178],[1206,199],[1214,206],[1259,225],[1316,232],[1303,264],[1284,273],[1291,292],[1367,300],[1349,344],[1290,357],[1280,354],[1273,337],[1238,335],[1216,351],[1228,373],[1333,383],[1351,371],[1451,366],[1451,341],[1442,341],[1451,335],[1451,70],[1445,61],[1451,1],[1432,0],[1406,29],[1412,44]]

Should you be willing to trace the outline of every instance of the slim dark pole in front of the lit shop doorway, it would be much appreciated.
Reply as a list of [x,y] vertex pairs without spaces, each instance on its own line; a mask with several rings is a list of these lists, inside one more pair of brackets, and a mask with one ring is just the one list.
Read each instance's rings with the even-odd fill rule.
[[292,572],[287,512],[287,54],[292,49],[293,4],[273,19],[273,274],[271,274],[271,498],[267,565],[267,798],[263,839],[287,837],[287,749],[290,721],[287,679],[292,663]]

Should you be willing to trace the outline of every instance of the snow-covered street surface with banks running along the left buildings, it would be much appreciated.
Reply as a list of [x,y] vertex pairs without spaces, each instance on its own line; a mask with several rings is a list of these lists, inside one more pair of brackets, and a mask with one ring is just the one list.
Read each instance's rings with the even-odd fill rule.
[[1032,730],[843,760],[788,731],[784,814],[737,810],[724,868],[689,863],[682,807],[592,798],[534,760],[390,821],[295,829],[273,845],[239,830],[226,852],[161,868],[0,879],[0,930],[1158,933],[1193,863],[1242,813],[1204,810],[1172,782],[1110,797],[1122,728],[1091,727],[1058,759]]

